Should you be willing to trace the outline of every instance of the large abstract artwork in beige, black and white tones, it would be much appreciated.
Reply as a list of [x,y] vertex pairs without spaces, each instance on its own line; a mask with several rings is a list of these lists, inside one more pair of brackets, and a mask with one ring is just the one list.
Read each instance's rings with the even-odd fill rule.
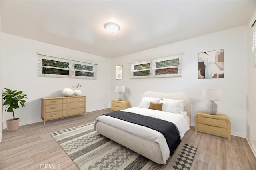
[[198,78],[224,78],[224,49],[198,53]]

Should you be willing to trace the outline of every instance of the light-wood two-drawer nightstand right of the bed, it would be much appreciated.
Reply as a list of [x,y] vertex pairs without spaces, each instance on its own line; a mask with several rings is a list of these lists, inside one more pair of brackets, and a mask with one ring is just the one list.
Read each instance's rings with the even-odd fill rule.
[[215,115],[198,112],[195,116],[195,131],[222,136],[231,140],[231,123],[226,114]]

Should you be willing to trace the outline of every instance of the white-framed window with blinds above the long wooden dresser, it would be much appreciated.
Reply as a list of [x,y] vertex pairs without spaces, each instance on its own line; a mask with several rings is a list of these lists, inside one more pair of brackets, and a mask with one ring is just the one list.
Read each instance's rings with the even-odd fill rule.
[[38,52],[38,76],[96,79],[97,65]]

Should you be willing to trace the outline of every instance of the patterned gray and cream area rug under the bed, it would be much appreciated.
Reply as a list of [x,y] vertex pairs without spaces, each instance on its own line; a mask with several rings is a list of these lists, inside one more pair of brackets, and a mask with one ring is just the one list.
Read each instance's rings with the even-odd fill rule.
[[94,122],[51,135],[80,170],[189,170],[197,150],[181,143],[166,164],[156,164],[98,134]]

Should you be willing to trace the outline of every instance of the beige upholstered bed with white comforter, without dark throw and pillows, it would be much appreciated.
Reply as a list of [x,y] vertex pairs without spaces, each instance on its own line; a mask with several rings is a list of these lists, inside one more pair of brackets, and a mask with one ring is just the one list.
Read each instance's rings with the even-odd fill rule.
[[[175,99],[186,101],[187,104],[184,106],[184,113],[186,114],[182,115],[180,113],[174,114],[141,107],[132,107],[122,110],[124,112],[131,113],[140,112],[140,114],[150,114],[150,116],[151,114],[155,115],[156,113],[156,116],[159,116],[156,118],[163,118],[166,121],[172,120],[179,131],[180,138],[182,138],[185,132],[189,130],[191,121],[192,108],[190,97],[183,92],[162,93],[147,91],[143,94],[142,100],[145,98],[150,98],[150,100],[153,98],[161,98],[162,100]],[[140,105],[141,104],[142,102]],[[110,116],[99,116],[95,121],[94,128],[99,134],[114,140],[115,142],[133,150],[134,152],[137,152],[142,156],[145,156],[158,164],[165,164],[166,160],[170,158],[170,152],[168,149],[166,149],[168,148],[168,145],[166,144],[164,136],[160,132],[150,128],[140,126],[138,124],[132,124],[130,122],[112,118]]]

